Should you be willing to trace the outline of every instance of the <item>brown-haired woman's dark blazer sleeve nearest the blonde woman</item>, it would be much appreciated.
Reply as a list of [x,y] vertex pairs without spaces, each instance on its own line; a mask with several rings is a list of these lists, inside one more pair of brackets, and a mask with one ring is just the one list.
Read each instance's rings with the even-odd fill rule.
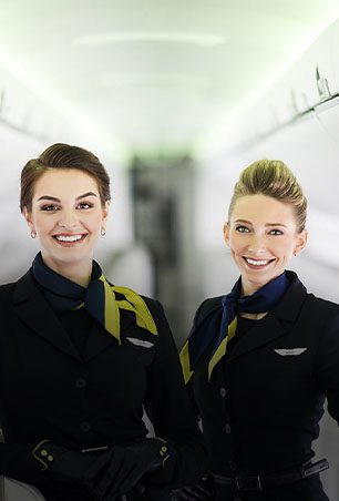
[[146,412],[155,436],[164,439],[170,447],[165,468],[154,480],[177,487],[194,482],[202,476],[206,449],[185,388],[177,349],[160,303],[156,301],[152,313],[158,339],[148,371]]

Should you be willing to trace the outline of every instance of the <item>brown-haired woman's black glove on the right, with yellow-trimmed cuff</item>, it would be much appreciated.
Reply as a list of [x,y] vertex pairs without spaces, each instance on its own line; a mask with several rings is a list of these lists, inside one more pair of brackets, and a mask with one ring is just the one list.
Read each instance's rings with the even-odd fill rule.
[[144,439],[133,446],[115,446],[110,452],[95,491],[102,500],[131,491],[141,479],[158,471],[168,459],[168,446],[161,439]]

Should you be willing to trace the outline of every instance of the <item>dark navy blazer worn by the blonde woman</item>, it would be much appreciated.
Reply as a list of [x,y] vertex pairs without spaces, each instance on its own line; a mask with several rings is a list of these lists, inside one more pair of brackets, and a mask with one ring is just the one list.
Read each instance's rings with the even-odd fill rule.
[[[288,277],[278,306],[239,338],[210,382],[208,354],[192,378],[215,473],[264,474],[309,460],[325,397],[339,421],[339,305]],[[206,299],[195,324],[220,299]]]

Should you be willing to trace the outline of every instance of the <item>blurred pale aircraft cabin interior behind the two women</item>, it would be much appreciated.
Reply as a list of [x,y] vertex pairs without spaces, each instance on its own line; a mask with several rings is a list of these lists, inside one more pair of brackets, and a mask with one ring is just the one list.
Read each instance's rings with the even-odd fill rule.
[[[19,211],[25,162],[54,142],[91,150],[112,178],[96,258],[158,298],[181,346],[199,301],[237,272],[223,242],[233,186],[280,159],[309,200],[292,267],[339,300],[339,0],[0,0],[0,280],[37,243]],[[318,441],[339,498],[338,426]]]

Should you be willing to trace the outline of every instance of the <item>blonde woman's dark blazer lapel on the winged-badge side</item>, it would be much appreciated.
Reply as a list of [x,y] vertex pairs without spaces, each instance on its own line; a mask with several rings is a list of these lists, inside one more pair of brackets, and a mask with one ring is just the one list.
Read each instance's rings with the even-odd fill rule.
[[290,326],[298,316],[307,296],[305,286],[295,274],[292,276],[291,285],[278,306],[261,320],[258,320],[250,331],[239,339],[227,362],[284,336],[290,330]]

